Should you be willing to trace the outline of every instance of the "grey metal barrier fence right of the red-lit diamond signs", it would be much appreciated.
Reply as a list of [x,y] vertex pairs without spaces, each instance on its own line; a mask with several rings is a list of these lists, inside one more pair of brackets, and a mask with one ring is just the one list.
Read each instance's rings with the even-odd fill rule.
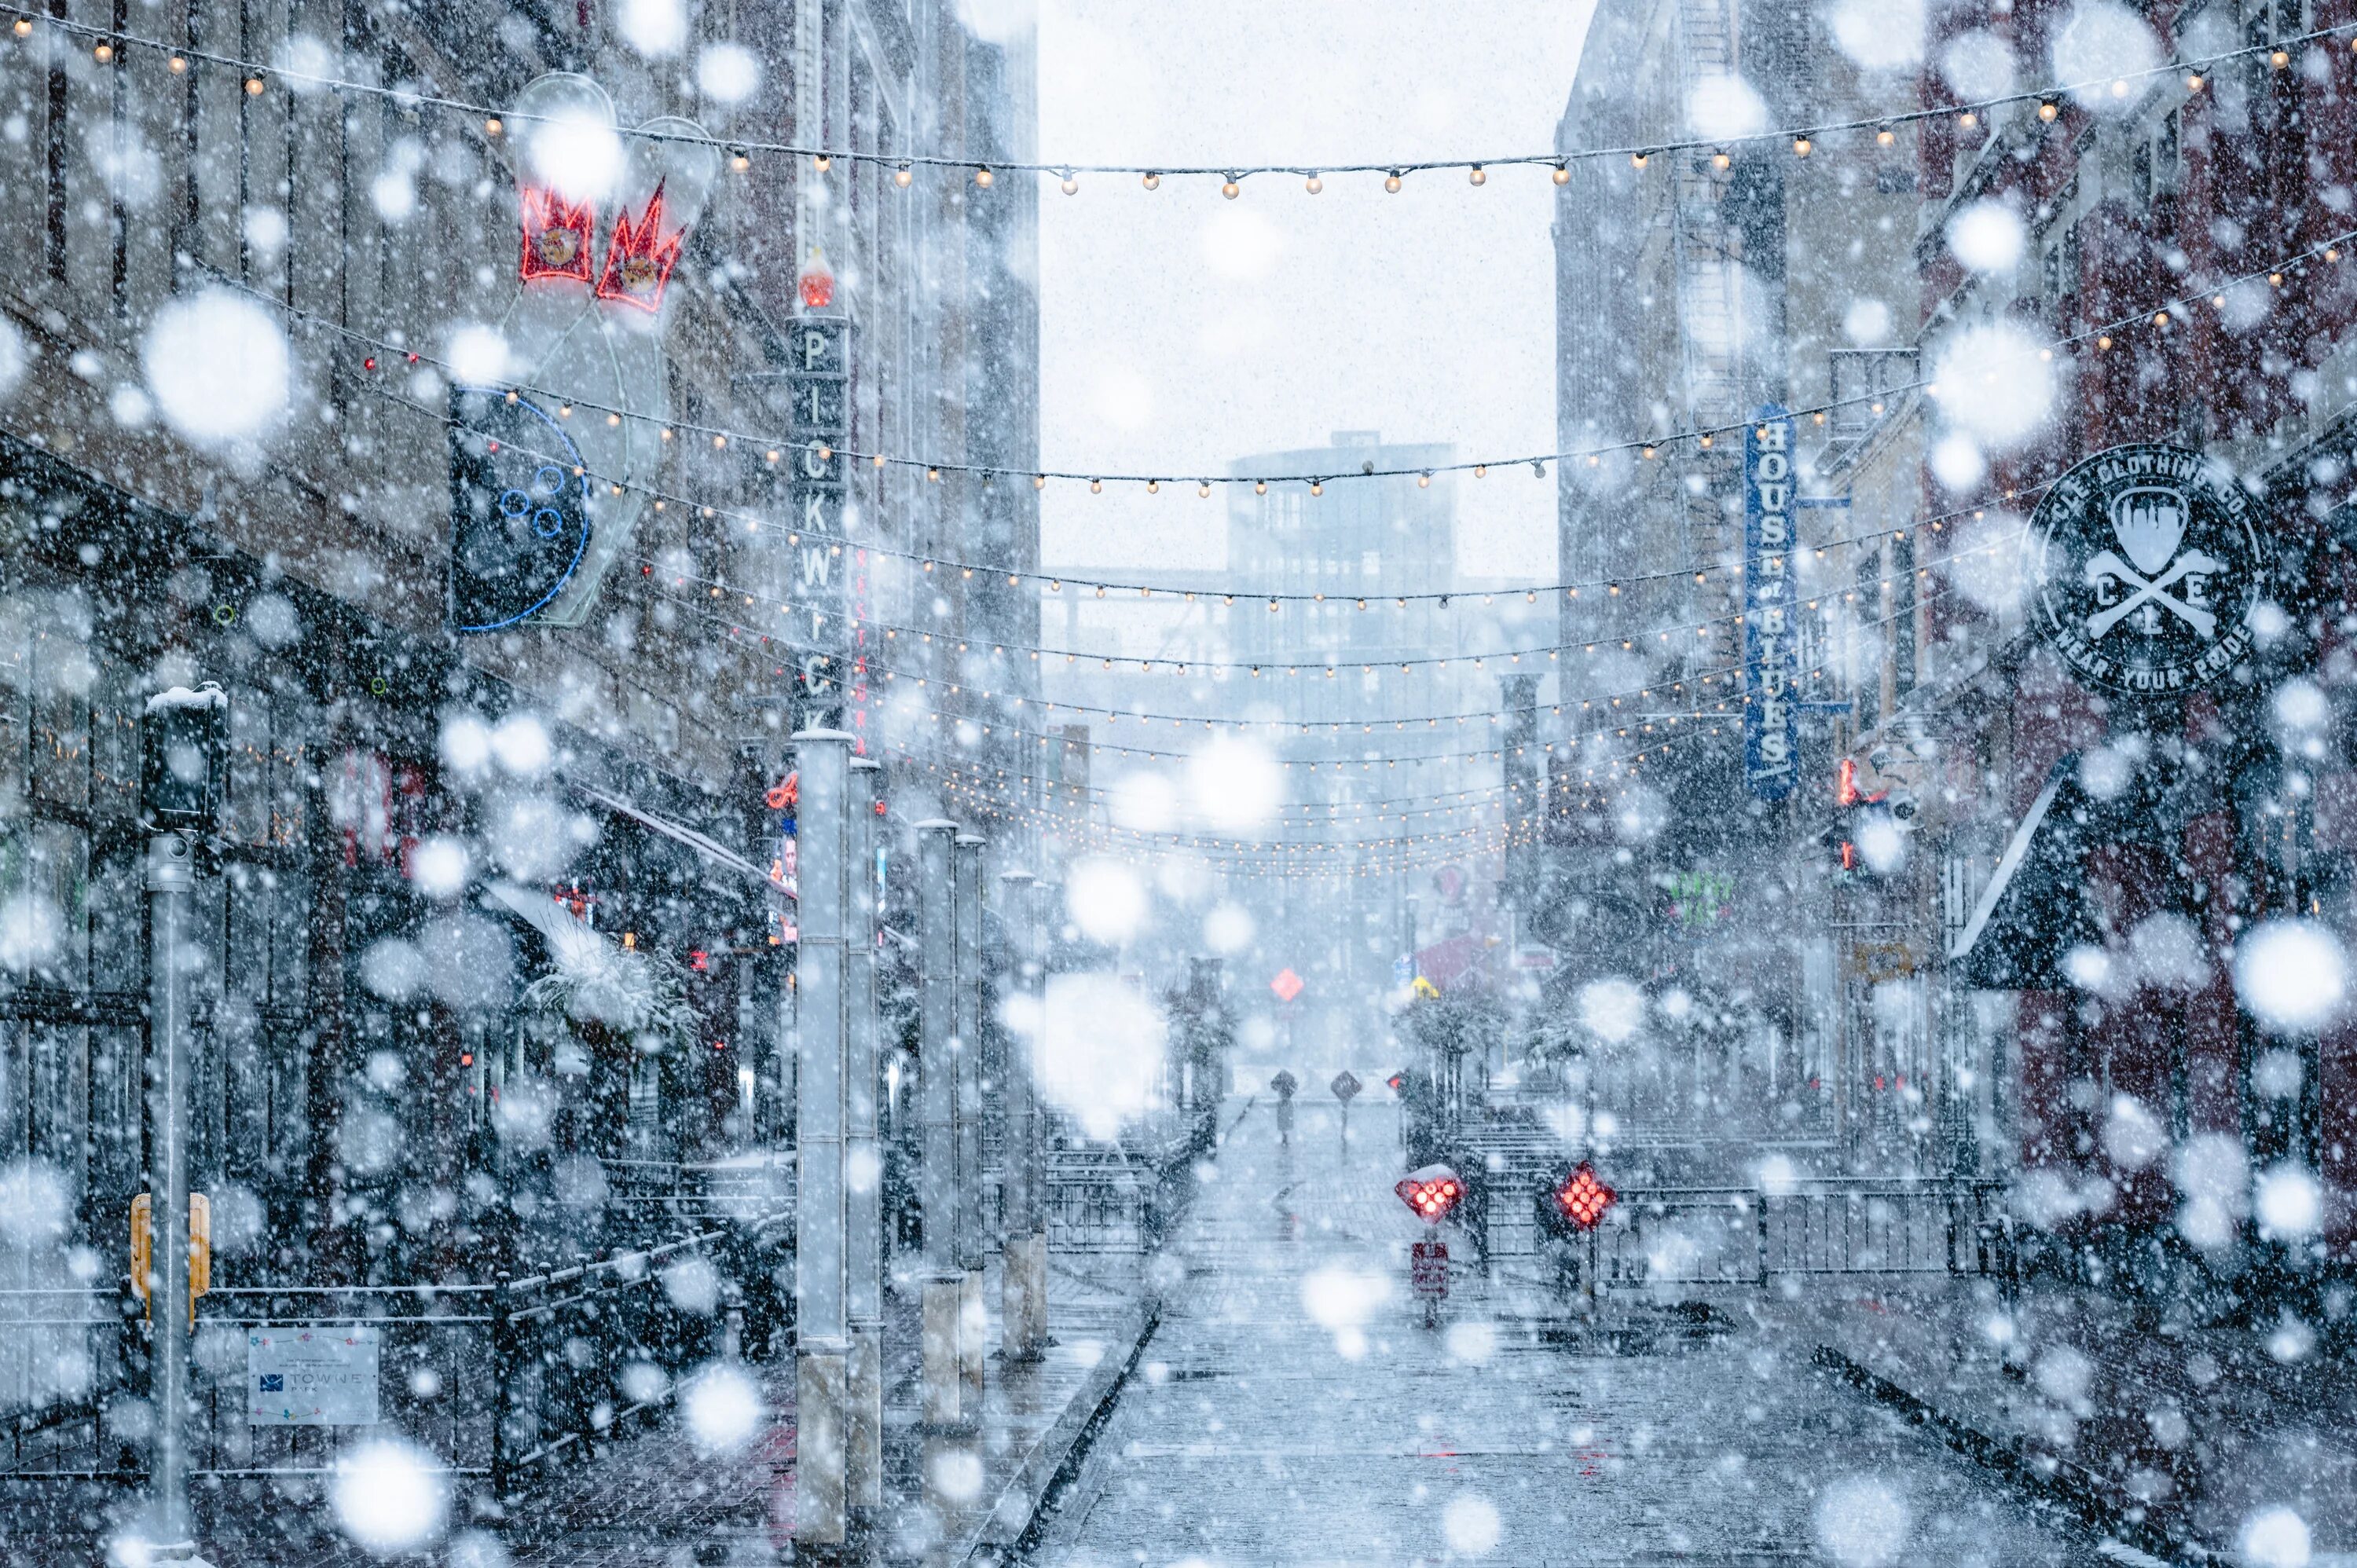
[[[1490,1252],[1539,1252],[1534,1203],[1490,1200]],[[1850,1184],[1801,1191],[1619,1193],[1589,1245],[1607,1287],[1765,1285],[1780,1276],[2003,1276],[2013,1236],[1994,1181]]]

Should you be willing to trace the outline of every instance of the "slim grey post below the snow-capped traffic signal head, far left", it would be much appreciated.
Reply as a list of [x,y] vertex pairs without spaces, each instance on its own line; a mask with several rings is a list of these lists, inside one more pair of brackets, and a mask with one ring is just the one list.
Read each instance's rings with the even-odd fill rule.
[[163,1165],[163,1193],[148,1205],[153,1276],[148,1302],[156,1335],[156,1547],[158,1556],[196,1554],[189,1514],[189,894],[196,844],[179,832],[148,839],[148,1118]]

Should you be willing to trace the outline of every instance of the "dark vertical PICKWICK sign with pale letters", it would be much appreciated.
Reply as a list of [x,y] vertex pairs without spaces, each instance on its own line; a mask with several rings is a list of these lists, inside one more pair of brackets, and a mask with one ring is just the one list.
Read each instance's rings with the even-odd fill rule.
[[841,729],[849,639],[844,582],[844,490],[851,436],[851,323],[804,316],[787,332],[787,417],[794,467],[785,486],[790,604],[794,606],[792,722],[794,729]]

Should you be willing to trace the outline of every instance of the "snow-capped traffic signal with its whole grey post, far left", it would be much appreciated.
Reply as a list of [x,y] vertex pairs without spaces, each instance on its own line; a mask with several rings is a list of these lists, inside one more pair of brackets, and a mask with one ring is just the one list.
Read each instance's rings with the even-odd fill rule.
[[[148,1122],[163,1200],[151,1205],[156,1396],[151,1561],[203,1561],[189,1514],[189,898],[222,806],[229,696],[212,681],[146,700],[139,724],[139,818],[148,830]],[[148,1191],[156,1191],[153,1186]]]

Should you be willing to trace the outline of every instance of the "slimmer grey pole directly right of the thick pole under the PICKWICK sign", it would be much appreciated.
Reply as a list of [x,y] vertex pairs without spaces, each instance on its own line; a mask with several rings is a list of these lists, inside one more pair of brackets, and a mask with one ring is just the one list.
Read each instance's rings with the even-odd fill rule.
[[846,1495],[853,1518],[884,1507],[884,1148],[877,1141],[877,806],[884,766],[851,759],[851,943],[844,976],[844,1306],[851,1318]]

